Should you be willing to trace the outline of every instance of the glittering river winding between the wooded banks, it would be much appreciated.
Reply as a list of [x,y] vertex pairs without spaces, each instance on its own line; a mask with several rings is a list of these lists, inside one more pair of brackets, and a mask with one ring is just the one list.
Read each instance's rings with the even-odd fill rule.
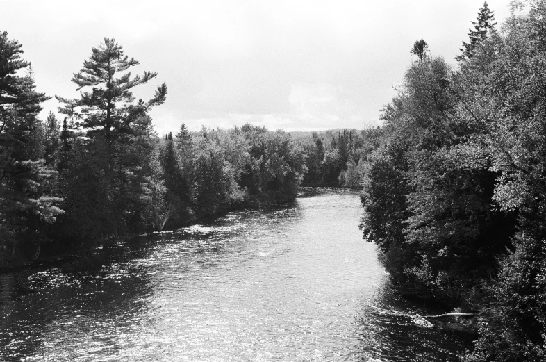
[[360,216],[324,191],[0,274],[0,361],[458,361]]

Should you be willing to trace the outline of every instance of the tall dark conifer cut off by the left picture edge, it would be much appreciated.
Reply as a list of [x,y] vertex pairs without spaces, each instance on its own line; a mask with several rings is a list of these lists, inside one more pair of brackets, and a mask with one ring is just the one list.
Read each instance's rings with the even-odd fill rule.
[[[0,33],[0,263],[28,242],[37,257],[47,226],[63,213],[56,206],[62,199],[48,195],[47,179],[54,172],[44,165],[44,134],[36,119],[49,98],[35,91],[21,48],[6,31]],[[26,75],[19,76],[23,69]],[[10,256],[4,254],[8,246]]]

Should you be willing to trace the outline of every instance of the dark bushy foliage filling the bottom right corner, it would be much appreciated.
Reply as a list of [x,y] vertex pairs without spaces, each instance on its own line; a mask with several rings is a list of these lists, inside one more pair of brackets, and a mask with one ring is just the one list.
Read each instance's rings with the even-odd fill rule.
[[465,361],[544,361],[546,358],[546,247],[517,233],[515,250],[500,263],[498,279],[479,315],[480,337]]

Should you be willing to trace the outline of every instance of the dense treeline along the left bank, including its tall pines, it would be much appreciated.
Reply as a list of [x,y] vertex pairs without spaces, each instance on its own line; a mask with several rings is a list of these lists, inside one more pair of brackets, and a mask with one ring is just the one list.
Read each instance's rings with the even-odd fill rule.
[[53,113],[42,121],[49,97],[35,91],[22,45],[0,34],[0,266],[42,246],[88,247],[297,195],[306,155],[289,134],[182,124],[159,138],[149,111],[167,87],[135,101],[133,88],[156,76],[131,76],[135,65],[105,38],[72,78],[80,96],[57,97],[62,124]]

